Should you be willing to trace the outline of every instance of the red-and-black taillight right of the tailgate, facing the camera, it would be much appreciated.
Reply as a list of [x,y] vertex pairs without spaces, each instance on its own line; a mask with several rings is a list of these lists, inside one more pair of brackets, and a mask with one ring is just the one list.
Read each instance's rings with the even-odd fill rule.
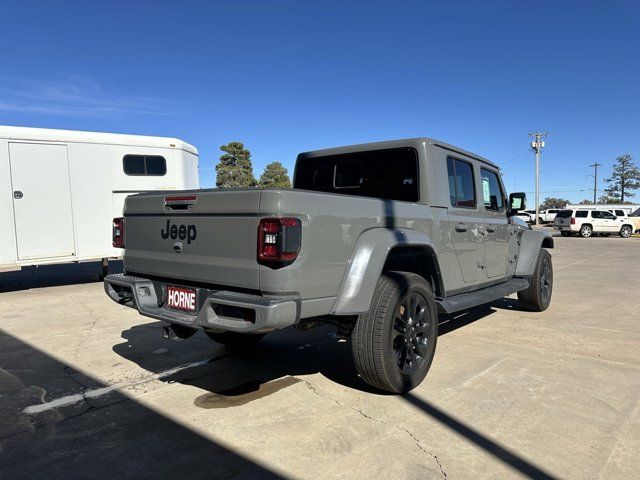
[[299,218],[263,218],[258,226],[258,262],[273,268],[292,263],[302,245]]

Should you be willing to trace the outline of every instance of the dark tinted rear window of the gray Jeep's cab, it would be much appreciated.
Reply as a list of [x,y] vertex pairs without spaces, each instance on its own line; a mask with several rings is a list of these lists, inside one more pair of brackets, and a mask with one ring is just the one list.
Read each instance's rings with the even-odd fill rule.
[[418,155],[392,148],[302,159],[294,188],[417,202]]

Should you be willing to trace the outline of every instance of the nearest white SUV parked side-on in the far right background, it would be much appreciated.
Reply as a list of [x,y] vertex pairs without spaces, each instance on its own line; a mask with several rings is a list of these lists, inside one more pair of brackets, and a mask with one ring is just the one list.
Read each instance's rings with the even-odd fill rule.
[[560,230],[563,237],[574,233],[587,238],[594,233],[611,235],[617,233],[628,238],[633,233],[629,217],[616,217],[607,210],[561,210],[556,215],[553,228]]

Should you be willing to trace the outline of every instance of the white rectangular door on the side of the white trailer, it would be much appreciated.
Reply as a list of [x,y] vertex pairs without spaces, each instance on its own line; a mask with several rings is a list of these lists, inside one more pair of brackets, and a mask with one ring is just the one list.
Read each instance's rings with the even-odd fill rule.
[[75,255],[66,145],[10,143],[18,259]]

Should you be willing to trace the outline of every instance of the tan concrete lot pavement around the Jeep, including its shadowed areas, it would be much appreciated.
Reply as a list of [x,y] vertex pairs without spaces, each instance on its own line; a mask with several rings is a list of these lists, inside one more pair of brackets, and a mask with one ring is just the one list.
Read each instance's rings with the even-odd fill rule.
[[97,266],[0,275],[0,477],[638,478],[640,240],[555,242],[550,309],[442,319],[405,396],[330,328],[237,355],[163,340]]

